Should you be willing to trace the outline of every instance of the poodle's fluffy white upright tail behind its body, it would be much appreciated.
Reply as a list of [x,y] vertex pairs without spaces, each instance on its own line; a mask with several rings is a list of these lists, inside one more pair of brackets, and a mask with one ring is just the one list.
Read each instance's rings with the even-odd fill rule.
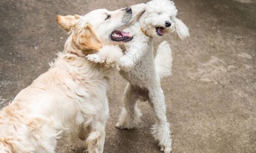
[[167,41],[163,41],[157,48],[155,68],[160,78],[172,74],[172,49]]

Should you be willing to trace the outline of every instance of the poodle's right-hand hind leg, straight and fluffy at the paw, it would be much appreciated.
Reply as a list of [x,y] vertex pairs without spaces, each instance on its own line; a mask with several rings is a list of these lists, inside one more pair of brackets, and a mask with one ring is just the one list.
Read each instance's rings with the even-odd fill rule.
[[165,96],[161,87],[149,90],[149,104],[154,110],[156,123],[152,127],[152,135],[159,141],[158,146],[165,153],[171,152],[172,139],[170,137],[170,125],[166,117]]

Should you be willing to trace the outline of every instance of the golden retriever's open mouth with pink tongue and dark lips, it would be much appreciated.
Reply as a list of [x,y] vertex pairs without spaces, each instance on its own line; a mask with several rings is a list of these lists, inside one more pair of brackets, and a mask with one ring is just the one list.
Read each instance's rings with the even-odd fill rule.
[[115,30],[110,35],[112,41],[130,41],[133,36],[129,32],[123,32],[120,30]]

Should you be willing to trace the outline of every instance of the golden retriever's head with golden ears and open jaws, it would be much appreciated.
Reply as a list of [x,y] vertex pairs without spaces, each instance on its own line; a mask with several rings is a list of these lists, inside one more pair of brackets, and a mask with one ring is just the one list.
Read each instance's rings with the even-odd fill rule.
[[87,55],[111,42],[130,41],[130,33],[118,31],[132,18],[131,8],[108,11],[98,9],[84,16],[57,16],[57,22],[62,29],[71,34],[65,43],[66,52],[80,50],[77,54]]

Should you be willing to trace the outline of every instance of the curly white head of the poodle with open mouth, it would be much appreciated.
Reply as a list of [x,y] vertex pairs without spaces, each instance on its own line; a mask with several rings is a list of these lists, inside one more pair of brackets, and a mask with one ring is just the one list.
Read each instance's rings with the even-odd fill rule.
[[173,1],[152,0],[146,4],[146,11],[139,19],[147,35],[151,37],[162,36],[171,30],[180,39],[189,37],[189,29],[176,17],[177,9]]

